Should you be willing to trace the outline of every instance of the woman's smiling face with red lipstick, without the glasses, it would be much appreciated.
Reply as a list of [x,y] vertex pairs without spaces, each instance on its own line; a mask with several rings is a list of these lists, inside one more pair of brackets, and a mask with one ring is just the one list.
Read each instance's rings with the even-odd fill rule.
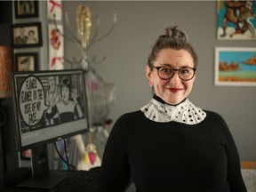
[[[174,50],[166,48],[158,52],[154,67],[180,69],[184,67],[194,68],[194,61],[186,50]],[[157,69],[151,70],[146,67],[146,76],[153,83],[156,95],[166,103],[175,105],[188,97],[191,92],[196,76],[189,81],[181,80],[178,71],[169,80],[163,80],[157,75]]]

